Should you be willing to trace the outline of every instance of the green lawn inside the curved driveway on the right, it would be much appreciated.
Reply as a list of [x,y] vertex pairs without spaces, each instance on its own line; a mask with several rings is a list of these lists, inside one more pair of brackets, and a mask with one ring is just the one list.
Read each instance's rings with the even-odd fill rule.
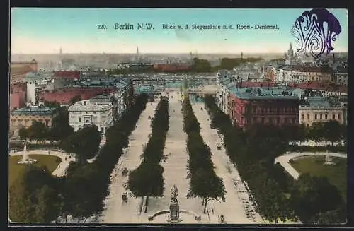
[[324,165],[324,156],[306,157],[294,160],[292,167],[300,174],[309,173],[317,177],[327,177],[329,182],[337,187],[347,199],[347,159],[333,158],[336,165]]

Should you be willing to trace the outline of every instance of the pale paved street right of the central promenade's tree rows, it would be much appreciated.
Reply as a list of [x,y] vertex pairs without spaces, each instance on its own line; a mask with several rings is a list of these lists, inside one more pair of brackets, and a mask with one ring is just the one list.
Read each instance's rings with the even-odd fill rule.
[[[239,172],[229,161],[226,150],[224,149],[223,142],[217,134],[216,129],[210,128],[210,117],[204,103],[192,102],[193,111],[195,116],[200,122],[200,134],[212,151],[212,162],[215,165],[215,172],[218,177],[224,179],[224,186],[227,191],[226,201],[219,203],[218,201],[210,201],[208,206],[209,213],[213,209],[214,214],[210,214],[212,220],[217,220],[217,215],[224,215],[227,223],[262,223],[261,217],[251,212],[254,211],[253,206],[249,201],[249,195],[246,189],[241,184]],[[209,120],[208,120],[209,119]],[[221,147],[221,150],[217,150],[217,146]],[[239,186],[236,186],[239,182]],[[240,186],[241,184],[241,186]],[[246,213],[249,213],[249,218]],[[251,215],[253,213],[253,215]],[[253,218],[252,218],[253,216]]]

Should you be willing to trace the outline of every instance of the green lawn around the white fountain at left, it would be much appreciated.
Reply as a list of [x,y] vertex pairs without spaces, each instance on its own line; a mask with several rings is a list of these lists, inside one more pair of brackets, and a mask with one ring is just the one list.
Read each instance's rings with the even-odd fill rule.
[[[29,155],[31,159],[37,160],[37,162],[33,165],[36,166],[46,166],[50,172],[53,172],[59,162],[56,160],[60,160],[59,157],[53,155]],[[24,164],[18,164],[18,160],[21,160],[21,155],[11,156],[8,158],[8,184],[11,185],[12,182],[21,174],[21,171],[24,169]]]

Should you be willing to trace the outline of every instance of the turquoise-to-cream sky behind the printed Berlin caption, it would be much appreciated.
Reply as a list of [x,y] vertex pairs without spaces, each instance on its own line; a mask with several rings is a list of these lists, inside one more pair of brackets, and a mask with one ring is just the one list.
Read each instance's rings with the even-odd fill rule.
[[[261,53],[286,52],[295,19],[311,9],[12,8],[11,54],[63,53]],[[341,23],[334,52],[348,50],[348,11],[329,9]],[[115,30],[129,23],[134,30]],[[154,30],[137,30],[152,23]],[[163,24],[188,29],[163,29]],[[196,25],[233,25],[193,30]],[[278,30],[237,30],[236,25],[276,25]],[[105,30],[98,29],[105,25]]]

